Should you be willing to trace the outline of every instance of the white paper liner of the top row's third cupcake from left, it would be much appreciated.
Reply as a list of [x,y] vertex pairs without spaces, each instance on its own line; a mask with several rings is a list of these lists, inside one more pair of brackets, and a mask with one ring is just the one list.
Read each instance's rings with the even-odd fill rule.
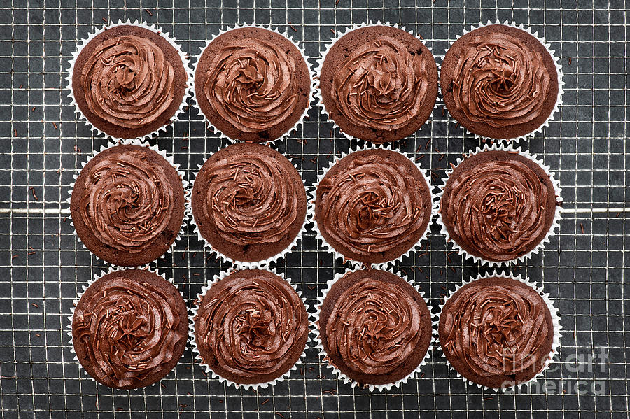
[[[381,21],[377,21],[376,23],[372,22],[372,20],[370,20],[367,23],[362,23],[362,24],[353,24],[350,27],[346,27],[344,30],[340,30],[337,31],[335,36],[328,41],[328,43],[326,43],[324,45],[324,50],[323,52],[321,52],[321,57],[317,60],[317,67],[315,69],[315,74],[316,74],[316,89],[315,89],[315,97],[318,99],[318,104],[319,106],[321,106],[321,111],[324,115],[326,115],[326,120],[328,120],[329,122],[332,122],[332,125],[335,129],[339,130],[339,132],[341,134],[343,134],[346,139],[352,140],[352,139],[357,139],[357,140],[362,140],[359,139],[358,137],[355,136],[351,136],[350,134],[344,132],[343,129],[341,129],[341,127],[339,127],[339,125],[337,125],[337,122],[335,122],[335,120],[333,120],[332,118],[330,118],[330,114],[328,113],[328,111],[326,110],[326,106],[324,105],[323,102],[323,97],[321,95],[321,86],[319,84],[319,78],[321,76],[321,69],[323,68],[323,62],[326,58],[326,55],[328,55],[328,52],[330,52],[330,48],[332,48],[332,45],[335,45],[335,42],[339,41],[340,38],[342,38],[342,36],[349,34],[351,31],[355,31],[356,29],[363,29],[366,27],[375,27],[375,26],[388,26],[388,27],[393,27],[396,29],[400,29],[401,31],[406,31],[407,33],[411,34],[412,36],[414,36],[415,38],[418,39],[418,41],[420,41],[421,43],[423,43],[424,46],[426,46],[426,48],[429,50],[429,52],[431,53],[431,56],[433,57],[433,60],[435,61],[435,65],[437,66],[437,96],[435,97],[435,104],[433,104],[433,110],[437,109],[438,106],[438,102],[440,101],[440,64],[437,62],[437,59],[435,59],[435,55],[433,54],[433,48],[431,48],[430,46],[426,45],[426,42],[424,41],[424,39],[419,38],[418,36],[414,35],[413,31],[407,31],[407,29],[405,29],[404,26],[399,27],[398,24],[395,23],[390,23],[390,22],[383,22],[381,23]],[[420,126],[418,127],[418,129],[416,130],[416,132],[421,129],[421,127],[423,127],[424,125],[428,124],[428,122],[430,122],[431,120],[431,115],[429,115],[429,118],[427,118],[427,120]],[[407,136],[408,137],[408,136]],[[407,137],[403,137],[402,139],[398,139],[395,141],[403,141],[405,138]],[[363,140],[363,141],[368,141],[370,143],[372,143],[372,141],[370,140]],[[391,144],[391,143],[395,143],[395,141],[387,141],[385,143],[382,144]],[[375,143],[375,144],[381,144],[381,143]]]

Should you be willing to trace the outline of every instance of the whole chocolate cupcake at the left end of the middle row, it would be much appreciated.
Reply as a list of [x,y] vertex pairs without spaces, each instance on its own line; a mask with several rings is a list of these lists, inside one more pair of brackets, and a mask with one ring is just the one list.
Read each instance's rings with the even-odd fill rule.
[[75,179],[72,222],[80,241],[102,260],[148,264],[178,239],[188,183],[157,147],[134,140],[102,148]]

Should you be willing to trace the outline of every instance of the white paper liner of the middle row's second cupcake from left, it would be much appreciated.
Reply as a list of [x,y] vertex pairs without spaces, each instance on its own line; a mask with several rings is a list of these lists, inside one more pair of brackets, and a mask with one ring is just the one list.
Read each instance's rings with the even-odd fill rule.
[[[269,148],[272,148],[272,147],[270,147],[271,144],[269,144],[269,143],[261,144],[261,145],[265,145],[265,146],[267,146]],[[218,152],[220,150],[223,150],[223,149],[222,148],[218,148],[211,155],[214,155],[216,152]],[[276,149],[272,148],[272,150],[276,150]],[[278,151],[278,150],[276,150],[276,151]],[[284,157],[286,157],[286,156],[284,156]],[[288,157],[287,157],[287,159],[288,159]],[[199,172],[200,172],[201,168],[203,167],[203,165],[206,164],[207,160],[208,159],[204,159],[204,162],[197,166],[197,171],[195,171],[195,179],[199,175]],[[297,169],[297,166],[295,166],[295,163],[291,162],[290,159],[288,159],[288,161],[291,164],[293,164],[293,167],[295,167],[295,170],[297,170],[297,174],[299,174],[300,178],[302,178],[302,171],[300,171],[300,169]],[[195,187],[195,179],[190,181],[190,194],[192,194],[193,188]],[[302,185],[304,185],[304,179],[303,178],[302,178]],[[308,209],[309,208],[309,205],[308,205],[309,191],[307,190],[306,185],[304,185],[304,192],[306,192],[306,197],[307,197],[307,213],[306,213],[306,215],[304,215],[304,222],[302,222],[302,227],[300,227],[300,231],[297,232],[297,236],[295,236],[293,241],[291,241],[291,243],[289,243],[288,246],[286,246],[286,248],[281,250],[279,253],[276,253],[276,255],[273,255],[271,257],[267,257],[266,259],[263,259],[263,260],[257,260],[257,261],[253,261],[253,262],[244,262],[244,261],[241,261],[241,260],[235,260],[235,259],[232,259],[232,257],[229,257],[228,255],[225,255],[225,254],[221,253],[220,250],[218,250],[214,246],[212,246],[211,243],[209,241],[207,241],[204,238],[204,236],[202,236],[201,230],[199,229],[199,226],[197,226],[197,222],[195,222],[195,215],[193,215],[193,200],[192,199],[188,199],[188,201],[186,201],[187,202],[187,205],[186,205],[186,213],[187,213],[186,218],[190,219],[190,225],[192,225],[194,227],[194,233],[197,234],[197,239],[199,241],[202,241],[204,243],[204,247],[208,248],[210,250],[210,253],[214,254],[217,258],[221,258],[223,261],[229,262],[230,264],[232,264],[233,267],[235,267],[235,269],[266,269],[269,266],[270,263],[276,262],[277,260],[281,259],[282,257],[285,257],[287,255],[287,253],[292,252],[295,248],[297,248],[297,243],[299,241],[302,241],[302,236],[304,236],[304,232],[306,232],[307,222],[309,220],[309,209]]]

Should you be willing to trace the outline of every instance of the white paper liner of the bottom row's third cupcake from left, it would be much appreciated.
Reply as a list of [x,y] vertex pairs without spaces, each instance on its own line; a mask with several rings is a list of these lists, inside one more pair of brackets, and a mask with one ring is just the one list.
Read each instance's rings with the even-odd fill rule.
[[[317,304],[315,306],[316,313],[314,314],[314,318],[315,318],[315,321],[314,321],[314,325],[315,325],[314,341],[316,343],[315,347],[319,350],[319,356],[320,356],[320,358],[322,360],[325,360],[328,357],[328,354],[326,353],[326,350],[323,347],[323,342],[321,341],[321,332],[319,330],[319,315],[321,313],[321,306],[322,306],[326,296],[328,295],[328,292],[332,288],[332,285],[334,285],[337,282],[337,280],[343,278],[347,274],[351,274],[353,272],[360,271],[360,270],[363,270],[363,269],[358,269],[358,268],[346,269],[346,271],[344,271],[343,273],[335,275],[335,278],[333,278],[331,280],[328,280],[328,282],[326,283],[327,286],[326,286],[325,290],[322,290],[322,295],[320,297],[318,297],[318,299],[317,299]],[[370,390],[370,392],[373,392],[373,391],[381,392],[383,390],[391,390],[392,388],[400,387],[400,385],[403,384],[403,383],[407,383],[407,381],[410,378],[416,378],[416,376],[418,376],[418,374],[420,374],[421,370],[423,369],[424,365],[426,364],[426,361],[430,358],[431,350],[433,349],[433,346],[435,345],[435,342],[437,341],[437,315],[435,315],[434,313],[431,313],[431,311],[433,309],[431,308],[428,299],[426,299],[424,297],[424,292],[422,292],[417,285],[414,285],[414,283],[412,283],[412,281],[407,279],[406,275],[397,274],[391,268],[380,269],[380,270],[389,272],[390,274],[393,274],[395,276],[398,276],[398,277],[402,278],[409,285],[414,287],[414,290],[416,290],[420,294],[420,296],[422,297],[422,299],[426,303],[426,306],[427,306],[428,311],[429,311],[430,316],[431,316],[431,340],[430,340],[430,343],[429,343],[429,347],[426,350],[426,354],[424,355],[424,357],[423,357],[422,361],[420,362],[420,364],[418,364],[418,366],[412,372],[410,372],[407,376],[405,376],[405,378],[401,378],[398,381],[394,381],[393,383],[388,383],[388,384],[367,384],[367,385],[365,385],[364,388],[367,388],[367,390]],[[354,381],[349,376],[346,376],[346,374],[344,374],[340,369],[335,367],[335,365],[333,365],[330,362],[330,360],[325,361],[325,363],[326,363],[326,366],[328,368],[332,369],[332,372],[335,375],[337,375],[337,378],[339,380],[344,381],[344,383],[346,383],[346,384],[350,383],[353,388],[356,387],[357,385],[359,385],[359,383],[357,381]]]

